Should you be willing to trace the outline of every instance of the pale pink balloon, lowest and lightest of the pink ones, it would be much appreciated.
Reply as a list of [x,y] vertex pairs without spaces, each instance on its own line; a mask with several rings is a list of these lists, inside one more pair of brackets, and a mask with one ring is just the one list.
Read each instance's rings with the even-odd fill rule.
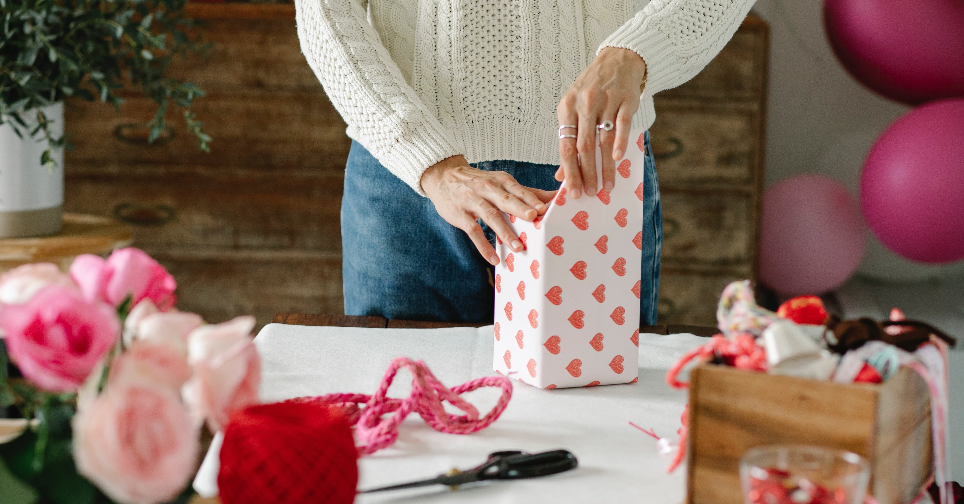
[[763,193],[760,279],[780,294],[831,291],[864,257],[864,223],[850,193],[832,178],[796,175]]

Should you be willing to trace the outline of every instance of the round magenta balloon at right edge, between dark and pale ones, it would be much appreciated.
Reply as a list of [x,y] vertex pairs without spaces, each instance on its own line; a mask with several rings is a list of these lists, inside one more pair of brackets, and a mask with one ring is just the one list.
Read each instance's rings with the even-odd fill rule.
[[864,162],[860,198],[892,251],[923,262],[964,258],[964,99],[928,103],[891,124]]

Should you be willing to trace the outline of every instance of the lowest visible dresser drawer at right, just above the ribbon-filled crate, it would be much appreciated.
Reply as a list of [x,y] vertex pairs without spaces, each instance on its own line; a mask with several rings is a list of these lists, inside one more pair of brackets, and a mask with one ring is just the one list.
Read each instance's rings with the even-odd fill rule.
[[703,275],[664,267],[659,276],[658,323],[716,326],[716,305],[723,288],[731,281],[749,278],[749,268]]

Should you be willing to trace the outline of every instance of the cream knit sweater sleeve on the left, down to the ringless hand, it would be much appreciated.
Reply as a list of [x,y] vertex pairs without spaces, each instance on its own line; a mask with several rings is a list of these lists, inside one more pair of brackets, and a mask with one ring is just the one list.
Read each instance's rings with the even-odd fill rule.
[[352,138],[419,195],[422,172],[463,153],[415,94],[361,0],[295,0],[298,39]]

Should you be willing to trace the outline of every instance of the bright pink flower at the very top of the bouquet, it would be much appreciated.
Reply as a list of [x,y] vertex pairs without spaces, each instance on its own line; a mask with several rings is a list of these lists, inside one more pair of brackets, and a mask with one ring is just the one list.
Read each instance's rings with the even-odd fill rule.
[[128,247],[106,260],[85,253],[70,265],[70,276],[88,300],[102,299],[120,305],[130,295],[132,304],[149,299],[161,311],[174,307],[177,283],[164,266],[140,249]]

